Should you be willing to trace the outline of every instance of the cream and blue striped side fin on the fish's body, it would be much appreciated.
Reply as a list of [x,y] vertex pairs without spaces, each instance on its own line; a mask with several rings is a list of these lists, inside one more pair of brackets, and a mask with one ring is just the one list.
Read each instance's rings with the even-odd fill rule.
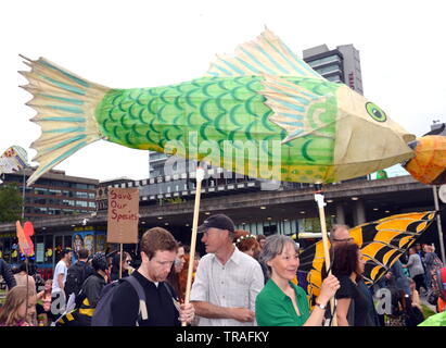
[[318,117],[309,121],[309,109],[315,103],[323,102],[327,96],[317,95],[302,86],[288,82],[278,76],[265,75],[262,82],[265,89],[260,91],[267,99],[265,102],[275,113],[269,121],[286,130],[289,142],[308,134],[319,137],[332,137],[324,132],[327,124]]

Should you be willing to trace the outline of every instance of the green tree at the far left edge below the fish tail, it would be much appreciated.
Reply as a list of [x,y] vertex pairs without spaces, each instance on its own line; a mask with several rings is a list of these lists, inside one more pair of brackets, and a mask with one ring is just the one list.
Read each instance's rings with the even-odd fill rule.
[[0,186],[0,223],[15,222],[22,216],[22,192],[16,184]]

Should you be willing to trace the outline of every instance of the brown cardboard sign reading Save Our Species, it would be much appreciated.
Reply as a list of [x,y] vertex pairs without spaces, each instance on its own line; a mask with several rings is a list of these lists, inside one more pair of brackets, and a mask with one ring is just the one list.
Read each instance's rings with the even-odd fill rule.
[[107,221],[107,243],[138,243],[138,188],[109,188]]

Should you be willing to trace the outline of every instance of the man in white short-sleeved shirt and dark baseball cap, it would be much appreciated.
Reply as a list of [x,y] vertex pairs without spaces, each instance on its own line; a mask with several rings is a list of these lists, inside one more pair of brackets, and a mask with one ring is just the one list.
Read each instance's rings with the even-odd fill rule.
[[199,263],[191,302],[200,326],[254,326],[255,299],[264,287],[259,263],[233,244],[235,226],[225,214],[199,227],[207,254]]

